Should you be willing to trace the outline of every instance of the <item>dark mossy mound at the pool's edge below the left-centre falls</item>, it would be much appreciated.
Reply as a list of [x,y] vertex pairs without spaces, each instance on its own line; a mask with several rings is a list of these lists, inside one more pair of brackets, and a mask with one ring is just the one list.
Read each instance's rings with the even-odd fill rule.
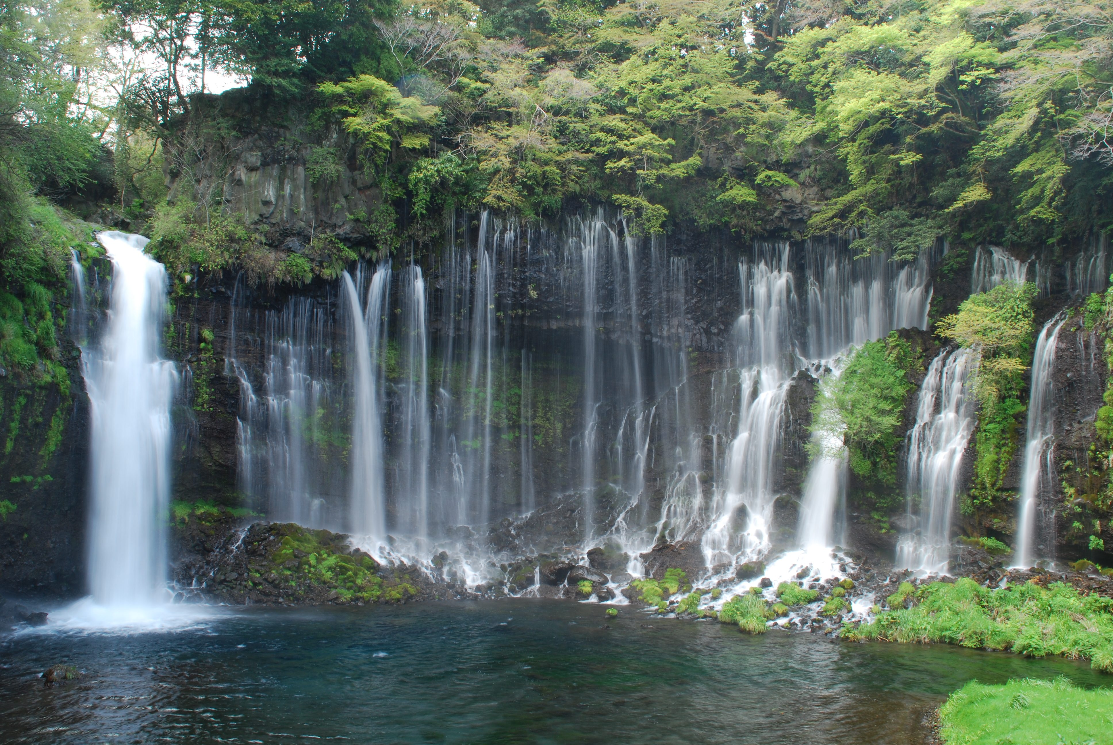
[[293,523],[272,529],[282,539],[267,560],[272,571],[287,584],[323,586],[335,590],[344,601],[397,602],[417,595],[408,576],[401,581],[384,579],[374,559],[362,552],[349,555],[346,546],[336,542],[336,533]]

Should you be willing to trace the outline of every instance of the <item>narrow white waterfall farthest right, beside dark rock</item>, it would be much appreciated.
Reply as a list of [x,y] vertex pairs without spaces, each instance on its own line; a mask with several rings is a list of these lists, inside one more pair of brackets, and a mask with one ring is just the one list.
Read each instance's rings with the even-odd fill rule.
[[1060,313],[1044,324],[1036,340],[1036,351],[1032,357],[1032,394],[1028,398],[1027,441],[1024,445],[1024,465],[1021,469],[1021,507],[1017,516],[1015,566],[1027,568],[1036,560],[1033,548],[1041,539],[1036,519],[1040,509],[1041,489],[1053,489],[1055,484],[1054,401],[1052,398],[1052,373],[1055,369],[1055,346],[1058,332],[1066,317]]

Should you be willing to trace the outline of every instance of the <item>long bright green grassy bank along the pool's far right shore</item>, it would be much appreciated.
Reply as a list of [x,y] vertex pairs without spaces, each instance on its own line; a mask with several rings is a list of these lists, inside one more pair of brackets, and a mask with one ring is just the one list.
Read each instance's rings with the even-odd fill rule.
[[887,604],[873,624],[846,628],[841,636],[1061,655],[1113,673],[1113,599],[1083,596],[1063,582],[996,589],[966,577],[919,588],[902,582]]

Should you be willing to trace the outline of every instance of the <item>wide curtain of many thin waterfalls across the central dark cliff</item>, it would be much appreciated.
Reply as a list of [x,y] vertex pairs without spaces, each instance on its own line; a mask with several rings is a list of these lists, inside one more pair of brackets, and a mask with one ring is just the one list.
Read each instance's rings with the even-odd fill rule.
[[[237,331],[229,369],[242,489],[269,517],[332,520],[407,561],[446,550],[467,582],[490,579],[501,551],[617,543],[636,571],[658,540],[693,541],[711,565],[779,550],[794,386],[851,345],[927,325],[928,253],[854,259],[829,241],[697,258],[605,209],[449,227],[420,266],[343,276],[335,304],[234,312],[237,330],[262,329]],[[336,483],[322,452],[348,434]],[[827,549],[844,459],[815,471],[800,540]],[[567,510],[524,517],[554,503]]]

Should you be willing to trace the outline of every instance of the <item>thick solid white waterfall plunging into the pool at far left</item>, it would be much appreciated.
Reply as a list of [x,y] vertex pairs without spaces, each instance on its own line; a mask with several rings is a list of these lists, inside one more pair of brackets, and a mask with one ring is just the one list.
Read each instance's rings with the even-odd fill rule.
[[159,356],[166,271],[147,238],[97,236],[112,262],[107,324],[81,372],[89,392],[89,587],[101,606],[142,607],[165,591],[174,363]]

